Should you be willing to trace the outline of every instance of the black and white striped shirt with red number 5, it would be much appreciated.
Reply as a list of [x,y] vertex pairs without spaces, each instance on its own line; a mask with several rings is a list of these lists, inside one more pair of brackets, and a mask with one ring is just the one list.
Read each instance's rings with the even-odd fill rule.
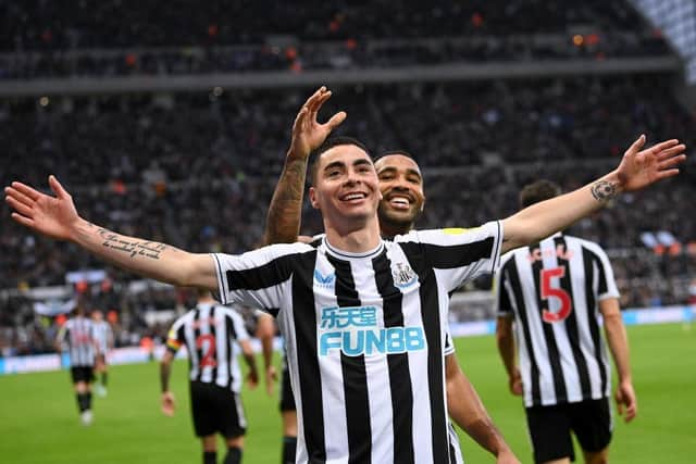
[[514,317],[526,406],[609,396],[598,302],[619,291],[598,244],[556,234],[513,250],[502,256],[494,288],[498,315]]

